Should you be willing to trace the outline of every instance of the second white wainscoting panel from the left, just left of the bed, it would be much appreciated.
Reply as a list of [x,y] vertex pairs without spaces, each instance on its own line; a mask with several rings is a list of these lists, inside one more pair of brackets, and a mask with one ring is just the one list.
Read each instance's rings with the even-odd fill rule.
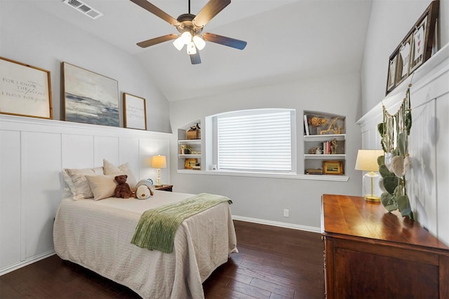
[[53,218],[60,202],[61,135],[22,132],[22,226],[25,256],[53,250]]

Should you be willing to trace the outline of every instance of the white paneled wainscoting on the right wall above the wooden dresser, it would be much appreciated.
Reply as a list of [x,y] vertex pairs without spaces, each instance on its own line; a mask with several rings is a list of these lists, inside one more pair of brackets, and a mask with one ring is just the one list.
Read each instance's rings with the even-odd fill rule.
[[449,245],[449,45],[358,120],[363,148],[381,148],[377,123],[382,121],[382,104],[396,113],[410,82],[412,170],[406,175],[407,192],[415,219]]

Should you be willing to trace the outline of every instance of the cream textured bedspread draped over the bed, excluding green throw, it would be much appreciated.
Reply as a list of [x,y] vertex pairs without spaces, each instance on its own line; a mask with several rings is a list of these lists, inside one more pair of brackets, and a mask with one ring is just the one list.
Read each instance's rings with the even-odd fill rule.
[[144,211],[191,196],[156,190],[148,200],[64,199],[53,229],[55,251],[64,260],[128,286],[142,298],[204,298],[202,282],[237,251],[227,202],[181,223],[173,253],[130,244]]

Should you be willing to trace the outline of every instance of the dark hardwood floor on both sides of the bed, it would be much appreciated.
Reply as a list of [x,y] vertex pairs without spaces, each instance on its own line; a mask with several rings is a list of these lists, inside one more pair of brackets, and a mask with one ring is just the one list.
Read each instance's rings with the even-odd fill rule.
[[[239,253],[204,282],[206,298],[323,298],[321,235],[234,221]],[[51,256],[0,277],[0,298],[140,298]]]

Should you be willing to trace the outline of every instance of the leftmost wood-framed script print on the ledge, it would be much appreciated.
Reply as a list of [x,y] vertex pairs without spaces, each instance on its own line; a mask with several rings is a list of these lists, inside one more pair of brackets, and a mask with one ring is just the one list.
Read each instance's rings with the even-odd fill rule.
[[50,71],[0,57],[0,113],[53,118]]

